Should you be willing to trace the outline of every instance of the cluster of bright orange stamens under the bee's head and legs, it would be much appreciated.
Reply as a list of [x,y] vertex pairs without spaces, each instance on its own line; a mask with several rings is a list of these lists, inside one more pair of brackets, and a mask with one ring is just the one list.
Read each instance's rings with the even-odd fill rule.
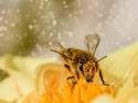
[[81,80],[74,89],[66,80],[63,88],[59,88],[53,92],[52,100],[43,93],[39,103],[87,103],[94,98],[108,93],[114,96],[114,87],[107,87],[96,83],[84,83]]

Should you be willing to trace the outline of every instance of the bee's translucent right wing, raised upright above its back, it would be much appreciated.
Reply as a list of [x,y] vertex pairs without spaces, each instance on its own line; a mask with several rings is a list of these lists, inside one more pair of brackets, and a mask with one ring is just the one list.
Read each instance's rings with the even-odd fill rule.
[[87,49],[95,55],[95,50],[100,42],[100,37],[98,34],[89,34],[85,36],[85,44],[87,46]]

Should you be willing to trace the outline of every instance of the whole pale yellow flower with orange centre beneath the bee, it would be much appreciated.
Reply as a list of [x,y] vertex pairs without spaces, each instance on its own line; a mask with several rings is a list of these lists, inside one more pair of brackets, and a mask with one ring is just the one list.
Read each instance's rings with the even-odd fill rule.
[[0,69],[9,77],[0,82],[0,102],[138,103],[137,62],[138,43],[135,43],[99,62],[109,87],[102,85],[96,76],[93,83],[78,81],[72,89],[64,66],[54,59],[6,55],[0,58]]

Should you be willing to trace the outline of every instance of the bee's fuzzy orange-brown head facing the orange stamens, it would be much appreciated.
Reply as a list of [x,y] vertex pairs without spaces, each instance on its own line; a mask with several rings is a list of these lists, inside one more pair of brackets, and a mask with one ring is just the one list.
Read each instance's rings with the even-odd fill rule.
[[79,70],[85,77],[86,81],[92,82],[97,71],[97,64],[88,60],[84,64],[79,64]]

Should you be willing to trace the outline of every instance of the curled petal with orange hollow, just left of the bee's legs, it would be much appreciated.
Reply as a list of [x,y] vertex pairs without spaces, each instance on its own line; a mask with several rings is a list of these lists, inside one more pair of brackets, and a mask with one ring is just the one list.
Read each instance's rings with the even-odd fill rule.
[[36,89],[39,94],[46,92],[50,98],[60,85],[64,66],[59,64],[43,64],[36,68]]

